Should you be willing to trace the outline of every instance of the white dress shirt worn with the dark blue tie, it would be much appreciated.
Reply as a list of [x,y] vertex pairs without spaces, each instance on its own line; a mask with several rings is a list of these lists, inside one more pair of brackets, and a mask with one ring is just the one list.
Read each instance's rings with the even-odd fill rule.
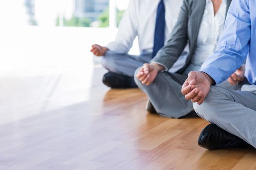
[[[165,43],[177,21],[183,0],[164,0]],[[141,53],[153,51],[157,8],[160,0],[130,0],[118,28],[116,40],[107,46],[111,51],[127,53],[138,36]]]

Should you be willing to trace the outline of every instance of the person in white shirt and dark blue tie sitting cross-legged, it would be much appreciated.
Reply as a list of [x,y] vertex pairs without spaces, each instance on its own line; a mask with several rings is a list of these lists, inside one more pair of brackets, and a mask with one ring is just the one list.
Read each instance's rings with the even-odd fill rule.
[[[137,87],[135,70],[149,62],[167,42],[177,21],[182,0],[130,0],[118,28],[116,40],[106,46],[92,45],[91,52],[103,56],[102,65],[109,72],[103,83],[111,88]],[[128,51],[138,36],[140,55],[129,55]],[[185,58],[186,52],[183,53]],[[184,64],[176,63],[173,70]]]

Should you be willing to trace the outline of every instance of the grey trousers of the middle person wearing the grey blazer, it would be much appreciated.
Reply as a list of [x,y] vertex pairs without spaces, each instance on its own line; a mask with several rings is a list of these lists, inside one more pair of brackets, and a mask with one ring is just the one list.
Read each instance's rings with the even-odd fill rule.
[[[138,70],[136,70],[135,74],[137,74]],[[186,100],[181,93],[181,87],[186,79],[187,71],[184,74],[159,72],[151,85],[143,85],[137,78],[135,78],[135,83],[147,94],[150,102],[160,116],[180,118],[194,110],[192,102]],[[233,86],[225,81],[218,86],[231,90],[239,90],[243,84],[240,83],[239,85]]]

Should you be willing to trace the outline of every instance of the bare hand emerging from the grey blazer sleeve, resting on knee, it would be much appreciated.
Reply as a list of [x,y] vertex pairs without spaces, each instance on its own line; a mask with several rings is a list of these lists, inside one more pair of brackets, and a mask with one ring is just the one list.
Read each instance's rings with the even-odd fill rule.
[[141,81],[142,84],[151,85],[151,83],[156,79],[158,72],[163,69],[164,67],[157,63],[145,63],[138,71],[136,77]]

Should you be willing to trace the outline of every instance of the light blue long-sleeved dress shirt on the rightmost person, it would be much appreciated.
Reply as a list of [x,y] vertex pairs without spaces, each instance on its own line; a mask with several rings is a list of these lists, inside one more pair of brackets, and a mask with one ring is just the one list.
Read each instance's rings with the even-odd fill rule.
[[256,84],[256,0],[232,0],[217,50],[201,70],[216,84],[226,80],[246,60],[245,76]]

